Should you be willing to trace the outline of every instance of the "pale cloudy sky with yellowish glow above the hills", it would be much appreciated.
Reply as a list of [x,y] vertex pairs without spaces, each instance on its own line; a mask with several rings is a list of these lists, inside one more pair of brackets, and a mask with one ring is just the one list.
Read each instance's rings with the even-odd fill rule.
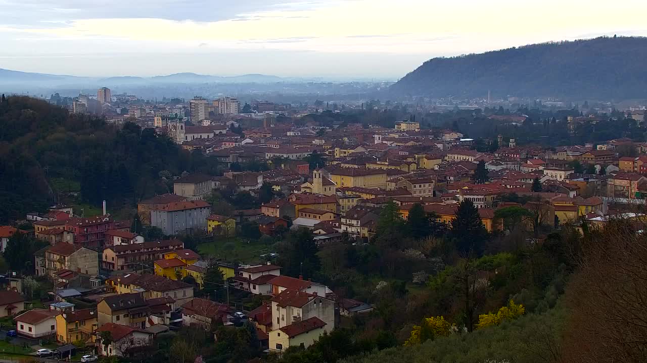
[[647,36],[646,11],[644,0],[0,0],[0,68],[397,79],[432,57]]

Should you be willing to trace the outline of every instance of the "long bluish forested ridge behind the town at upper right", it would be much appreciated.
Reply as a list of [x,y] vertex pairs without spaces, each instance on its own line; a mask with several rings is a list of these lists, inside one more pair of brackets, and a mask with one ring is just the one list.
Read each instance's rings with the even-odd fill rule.
[[647,98],[647,38],[599,37],[439,57],[391,86],[410,96]]

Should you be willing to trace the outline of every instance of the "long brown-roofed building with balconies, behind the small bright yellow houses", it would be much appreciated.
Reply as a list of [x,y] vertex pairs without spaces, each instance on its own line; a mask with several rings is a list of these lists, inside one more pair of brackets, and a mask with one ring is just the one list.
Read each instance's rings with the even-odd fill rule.
[[184,249],[184,243],[181,240],[162,240],[108,247],[102,253],[102,268],[111,271],[137,269],[141,267],[142,263],[164,258],[164,253],[176,249]]

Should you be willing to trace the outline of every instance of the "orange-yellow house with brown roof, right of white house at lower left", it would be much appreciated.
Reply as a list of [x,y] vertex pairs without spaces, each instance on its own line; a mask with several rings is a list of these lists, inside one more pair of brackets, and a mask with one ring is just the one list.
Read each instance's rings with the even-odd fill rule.
[[94,342],[94,330],[98,327],[94,309],[80,309],[56,316],[56,340],[63,344]]

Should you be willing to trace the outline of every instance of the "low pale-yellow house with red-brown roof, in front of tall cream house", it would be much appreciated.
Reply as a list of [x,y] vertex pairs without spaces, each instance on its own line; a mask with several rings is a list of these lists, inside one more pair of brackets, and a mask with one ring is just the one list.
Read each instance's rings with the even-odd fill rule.
[[282,352],[289,347],[309,347],[319,340],[324,328],[325,322],[313,317],[274,329],[269,333],[270,351]]

